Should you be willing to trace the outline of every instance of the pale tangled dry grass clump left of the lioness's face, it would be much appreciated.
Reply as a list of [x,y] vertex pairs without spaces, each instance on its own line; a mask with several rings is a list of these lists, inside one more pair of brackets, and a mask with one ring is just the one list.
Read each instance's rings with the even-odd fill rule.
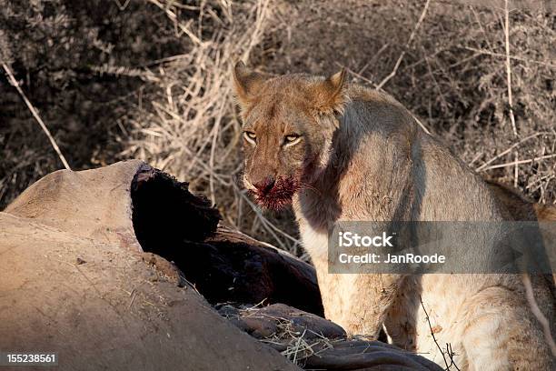
[[131,128],[123,155],[190,182],[220,209],[225,223],[291,249],[295,239],[275,220],[268,222],[242,189],[242,128],[232,95],[233,62],[248,59],[259,44],[271,16],[269,2],[207,1],[188,7],[198,14],[188,22],[177,3],[152,2],[190,48],[144,73],[155,89],[125,123]]

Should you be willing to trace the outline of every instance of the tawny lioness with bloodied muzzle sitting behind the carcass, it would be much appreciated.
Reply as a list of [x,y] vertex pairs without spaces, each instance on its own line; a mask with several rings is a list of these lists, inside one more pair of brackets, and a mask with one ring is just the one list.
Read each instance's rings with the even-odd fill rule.
[[[550,369],[520,276],[328,274],[327,233],[338,220],[504,218],[489,186],[400,103],[344,80],[344,71],[265,78],[234,68],[243,183],[264,207],[293,203],[326,317],[351,334],[376,336],[385,326],[393,344],[442,366],[439,345],[450,343],[460,369]],[[546,281],[532,282],[552,319]]]

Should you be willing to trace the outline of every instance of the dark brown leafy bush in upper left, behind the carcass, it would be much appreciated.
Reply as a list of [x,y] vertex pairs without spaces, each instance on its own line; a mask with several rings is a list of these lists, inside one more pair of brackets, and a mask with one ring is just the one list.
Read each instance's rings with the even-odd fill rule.
[[[0,0],[0,61],[74,169],[114,162],[123,149],[114,140],[116,119],[144,85],[137,76],[98,71],[143,72],[152,60],[183,52],[165,21],[159,8],[140,1]],[[6,77],[0,69],[0,209],[62,167]]]

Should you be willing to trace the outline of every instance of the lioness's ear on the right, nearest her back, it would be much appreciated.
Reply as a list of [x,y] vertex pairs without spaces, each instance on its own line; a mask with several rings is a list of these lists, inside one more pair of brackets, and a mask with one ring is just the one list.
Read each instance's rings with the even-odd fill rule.
[[316,86],[315,104],[319,111],[343,112],[343,106],[348,100],[345,75],[345,69],[342,68],[340,72],[329,76]]

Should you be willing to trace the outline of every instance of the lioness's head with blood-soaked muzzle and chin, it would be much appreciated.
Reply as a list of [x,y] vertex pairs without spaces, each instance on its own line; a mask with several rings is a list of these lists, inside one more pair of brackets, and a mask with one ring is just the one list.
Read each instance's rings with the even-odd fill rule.
[[328,78],[267,78],[238,63],[235,96],[243,119],[243,183],[270,209],[291,203],[328,163],[336,115],[347,99],[345,72]]

